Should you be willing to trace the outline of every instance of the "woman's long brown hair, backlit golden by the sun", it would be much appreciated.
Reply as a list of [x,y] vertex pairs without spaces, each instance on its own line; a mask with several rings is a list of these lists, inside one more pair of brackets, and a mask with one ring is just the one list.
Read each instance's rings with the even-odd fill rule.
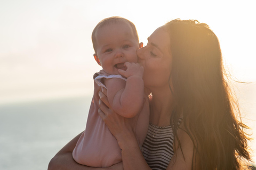
[[183,130],[194,143],[192,169],[244,169],[251,160],[249,137],[244,132],[247,126],[225,77],[217,36],[196,20],[177,19],[165,27],[172,55],[170,89],[175,112],[170,121],[174,137],[183,116]]

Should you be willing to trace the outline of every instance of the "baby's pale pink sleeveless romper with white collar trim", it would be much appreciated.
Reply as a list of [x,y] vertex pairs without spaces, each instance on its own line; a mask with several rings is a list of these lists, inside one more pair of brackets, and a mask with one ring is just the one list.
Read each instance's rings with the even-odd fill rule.
[[[95,75],[98,77],[95,78]],[[87,118],[86,129],[77,141],[73,151],[73,158],[77,163],[91,167],[109,167],[122,162],[121,149],[116,138],[111,134],[107,125],[98,114],[99,95],[102,78],[121,78],[121,75],[109,75],[103,70],[94,74],[94,94]],[[100,87],[101,86],[101,87]],[[139,113],[135,133],[138,142],[142,146],[146,138],[149,124],[149,102],[145,94],[145,104]]]

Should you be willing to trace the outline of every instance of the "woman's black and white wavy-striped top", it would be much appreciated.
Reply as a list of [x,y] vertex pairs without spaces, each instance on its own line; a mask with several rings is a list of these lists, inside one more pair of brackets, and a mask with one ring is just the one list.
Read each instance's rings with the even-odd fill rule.
[[[181,119],[179,120],[179,124]],[[153,170],[166,169],[172,159],[173,130],[171,125],[159,127],[149,123],[148,133],[142,146],[143,156]]]

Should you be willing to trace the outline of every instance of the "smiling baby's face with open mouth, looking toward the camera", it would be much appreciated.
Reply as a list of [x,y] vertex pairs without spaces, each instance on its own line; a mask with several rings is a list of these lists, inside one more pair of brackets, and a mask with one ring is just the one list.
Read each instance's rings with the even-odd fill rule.
[[136,50],[139,49],[139,42],[129,24],[105,25],[96,32],[95,37],[96,55],[108,74],[119,74],[118,69],[126,70],[125,62],[138,62]]

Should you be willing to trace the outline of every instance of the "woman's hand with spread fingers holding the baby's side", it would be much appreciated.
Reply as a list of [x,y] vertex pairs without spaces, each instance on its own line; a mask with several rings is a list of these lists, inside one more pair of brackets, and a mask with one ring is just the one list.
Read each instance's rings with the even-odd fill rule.
[[108,126],[110,132],[117,139],[119,147],[122,149],[122,143],[126,140],[127,134],[134,135],[138,115],[132,118],[125,118],[118,115],[115,111],[113,111],[113,109],[111,109],[106,94],[106,89],[99,92],[100,100],[98,112],[102,120]]

